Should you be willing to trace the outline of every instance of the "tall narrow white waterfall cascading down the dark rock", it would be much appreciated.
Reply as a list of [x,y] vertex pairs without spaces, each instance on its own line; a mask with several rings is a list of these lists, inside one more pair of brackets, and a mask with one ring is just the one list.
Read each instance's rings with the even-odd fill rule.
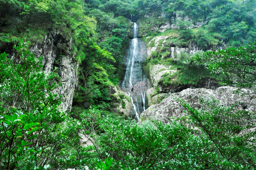
[[[134,21],[131,16],[131,21]],[[134,38],[131,40],[126,61],[126,73],[122,82],[122,89],[127,91],[133,104],[135,118],[139,120],[140,114],[146,109],[145,93],[150,88],[141,64],[146,59],[145,43],[137,38],[138,26],[133,24]]]

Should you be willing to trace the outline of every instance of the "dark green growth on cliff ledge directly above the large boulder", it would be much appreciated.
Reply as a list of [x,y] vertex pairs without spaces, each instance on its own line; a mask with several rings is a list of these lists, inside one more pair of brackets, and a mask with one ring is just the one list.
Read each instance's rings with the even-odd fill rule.
[[[153,52],[152,55],[154,54]],[[170,86],[200,86],[200,84],[205,83],[205,81],[209,79],[216,81],[216,85],[231,83],[228,76],[225,76],[223,73],[211,73],[210,70],[204,68],[200,64],[194,64],[192,61],[188,62],[191,57],[193,58],[193,55],[180,53],[179,56],[176,56],[177,59],[161,59],[162,56],[167,54],[170,55],[170,53],[155,53],[157,57],[147,60],[145,65],[147,72],[149,72],[149,69],[151,69],[155,64],[171,66],[170,73],[163,74],[162,78],[158,82],[158,85],[161,85],[163,88],[168,89]],[[162,56],[158,57],[158,55]],[[177,71],[171,73],[171,70]]]

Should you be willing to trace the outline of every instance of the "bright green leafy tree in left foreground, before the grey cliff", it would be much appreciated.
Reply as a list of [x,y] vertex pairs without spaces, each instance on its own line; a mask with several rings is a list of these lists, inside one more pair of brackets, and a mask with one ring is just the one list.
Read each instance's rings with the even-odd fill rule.
[[[42,57],[25,44],[15,47],[19,63],[1,54],[0,169],[48,169],[64,136],[56,75],[45,75]],[[4,69],[3,69],[4,68]]]

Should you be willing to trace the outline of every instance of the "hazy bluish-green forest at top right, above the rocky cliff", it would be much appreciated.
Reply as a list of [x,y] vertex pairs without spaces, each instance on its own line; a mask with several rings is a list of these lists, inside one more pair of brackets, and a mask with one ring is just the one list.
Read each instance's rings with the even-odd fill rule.
[[[156,36],[157,29],[169,22],[179,28],[181,41],[197,42],[203,50],[214,48],[216,43],[223,41],[228,46],[238,47],[256,39],[255,4],[250,0],[135,0],[134,4],[139,10],[140,31],[147,36]],[[189,20],[180,20],[176,18],[178,15]],[[190,36],[189,32],[184,32],[197,22],[203,24],[198,34]]]

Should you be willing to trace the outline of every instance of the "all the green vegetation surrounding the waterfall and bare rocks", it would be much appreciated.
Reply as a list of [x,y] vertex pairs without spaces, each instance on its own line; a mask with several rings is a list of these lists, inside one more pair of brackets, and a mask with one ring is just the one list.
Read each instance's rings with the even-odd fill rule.
[[[110,112],[113,102],[125,98],[110,95],[110,86],[122,80],[133,37],[130,15],[137,17],[145,41],[173,35],[170,45],[227,47],[178,59],[162,59],[163,51],[155,51],[146,64],[180,70],[164,75],[163,85],[173,78],[194,85],[213,77],[255,89],[254,0],[0,0],[0,169],[256,169],[256,110],[234,110],[214,99],[200,99],[203,107],[195,109],[176,99],[186,116],[166,124],[137,123]],[[175,28],[160,32],[166,24]],[[30,51],[53,31],[74,42],[79,81],[72,112],[63,112],[61,96],[53,93],[59,75],[45,75],[43,56]],[[19,61],[10,59],[12,50]]]

